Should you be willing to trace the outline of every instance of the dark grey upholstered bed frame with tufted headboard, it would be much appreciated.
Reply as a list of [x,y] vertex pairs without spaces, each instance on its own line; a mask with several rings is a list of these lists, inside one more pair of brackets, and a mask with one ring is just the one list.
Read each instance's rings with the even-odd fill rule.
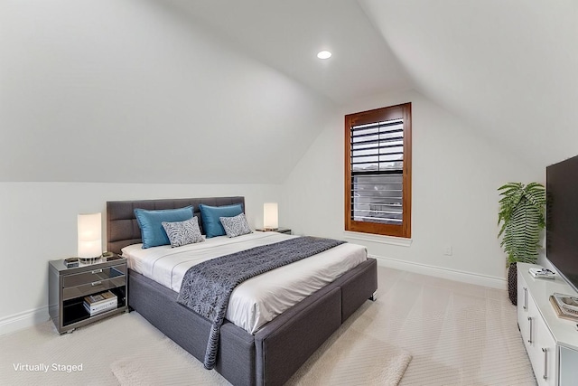
[[[107,202],[108,251],[120,253],[127,245],[142,242],[135,208],[158,210],[193,205],[202,231],[200,203],[240,203],[245,210],[244,197]],[[128,306],[202,362],[210,321],[178,304],[176,292],[131,269],[128,286]],[[215,370],[234,385],[284,384],[361,304],[375,296],[377,288],[377,262],[368,259],[275,317],[256,334],[225,320]]]

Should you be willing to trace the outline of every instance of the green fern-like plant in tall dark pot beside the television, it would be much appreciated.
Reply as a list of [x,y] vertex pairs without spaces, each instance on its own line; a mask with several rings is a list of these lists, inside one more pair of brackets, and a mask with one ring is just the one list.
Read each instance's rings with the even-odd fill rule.
[[540,232],[545,228],[545,187],[543,184],[509,183],[498,188],[498,237],[508,254],[508,295],[517,304],[516,263],[536,263]]

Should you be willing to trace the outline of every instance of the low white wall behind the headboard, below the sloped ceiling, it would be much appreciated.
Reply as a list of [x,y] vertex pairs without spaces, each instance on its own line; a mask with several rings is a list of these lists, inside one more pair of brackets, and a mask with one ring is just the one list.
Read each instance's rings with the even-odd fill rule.
[[0,334],[48,319],[48,261],[77,255],[77,214],[102,212],[104,227],[107,201],[231,195],[245,196],[247,221],[260,227],[280,186],[0,183]]

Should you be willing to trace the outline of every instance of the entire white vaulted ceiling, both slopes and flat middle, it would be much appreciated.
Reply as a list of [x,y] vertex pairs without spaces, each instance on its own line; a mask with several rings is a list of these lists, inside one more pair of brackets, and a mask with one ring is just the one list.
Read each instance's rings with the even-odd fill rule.
[[1,2],[0,181],[280,183],[340,107],[411,88],[544,167],[578,153],[577,21],[573,0]]

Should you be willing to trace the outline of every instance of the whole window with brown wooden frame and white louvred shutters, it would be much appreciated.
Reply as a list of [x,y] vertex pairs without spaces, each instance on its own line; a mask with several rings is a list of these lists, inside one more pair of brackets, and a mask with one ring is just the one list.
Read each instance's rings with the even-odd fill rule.
[[345,116],[345,230],[411,237],[411,103]]

